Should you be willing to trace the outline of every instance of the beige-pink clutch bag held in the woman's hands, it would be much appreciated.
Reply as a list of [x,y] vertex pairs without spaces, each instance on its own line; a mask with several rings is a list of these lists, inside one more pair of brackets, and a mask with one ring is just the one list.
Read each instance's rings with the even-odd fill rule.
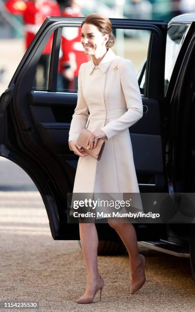
[[86,150],[95,159],[100,160],[103,149],[104,149],[105,141],[103,139],[98,139],[96,147],[89,149],[87,146],[87,140],[90,134],[91,134],[91,131],[89,131],[88,129],[86,128],[82,129],[82,131],[80,132],[78,136],[76,143],[82,146],[83,150]]

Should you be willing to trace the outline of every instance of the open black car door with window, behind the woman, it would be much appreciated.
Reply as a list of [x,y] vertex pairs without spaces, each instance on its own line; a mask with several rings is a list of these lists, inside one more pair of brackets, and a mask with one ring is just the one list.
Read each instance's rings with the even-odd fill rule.
[[[68,146],[77,90],[74,85],[67,88],[62,84],[59,63],[64,38],[74,31],[78,34],[82,20],[81,17],[48,17],[45,20],[0,103],[0,154],[19,165],[34,181],[44,201],[55,240],[79,239],[78,224],[67,223],[67,193],[73,190],[78,160]],[[131,56],[139,44],[137,40],[148,38],[142,41],[147,58],[144,81],[140,86],[144,115],[129,131],[140,192],[164,192],[167,183],[161,123],[168,23],[110,20],[116,37],[115,53],[131,58],[133,64]],[[42,74],[41,81],[40,60],[51,36],[52,49],[45,65],[48,74]],[[137,58],[139,62],[143,61],[139,55]],[[113,229],[109,225],[97,225],[100,240],[113,238]],[[143,236],[138,237],[146,239],[144,233]]]

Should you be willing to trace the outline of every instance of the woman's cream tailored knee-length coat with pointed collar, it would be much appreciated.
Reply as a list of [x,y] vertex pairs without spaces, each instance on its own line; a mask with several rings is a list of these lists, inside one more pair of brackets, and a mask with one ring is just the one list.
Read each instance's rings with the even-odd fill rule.
[[[88,113],[88,110],[90,114]],[[102,158],[79,157],[73,193],[139,193],[129,127],[143,116],[133,64],[108,49],[98,66],[83,63],[69,142],[83,128],[107,136]]]

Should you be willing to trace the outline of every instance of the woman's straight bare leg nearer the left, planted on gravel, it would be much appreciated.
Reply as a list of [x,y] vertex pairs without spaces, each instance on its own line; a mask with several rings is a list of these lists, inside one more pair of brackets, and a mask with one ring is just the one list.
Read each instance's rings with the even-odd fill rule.
[[98,235],[95,223],[79,223],[80,243],[87,269],[87,289],[83,297],[91,297],[99,278],[97,264]]

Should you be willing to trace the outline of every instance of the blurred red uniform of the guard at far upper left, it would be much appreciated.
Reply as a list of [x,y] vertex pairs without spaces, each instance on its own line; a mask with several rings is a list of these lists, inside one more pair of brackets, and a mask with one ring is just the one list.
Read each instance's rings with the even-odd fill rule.
[[[5,5],[11,13],[22,14],[23,16],[26,49],[29,47],[47,16],[61,16],[58,4],[49,0],[35,2],[30,0],[7,0]],[[52,37],[48,40],[43,54],[51,53]]]

